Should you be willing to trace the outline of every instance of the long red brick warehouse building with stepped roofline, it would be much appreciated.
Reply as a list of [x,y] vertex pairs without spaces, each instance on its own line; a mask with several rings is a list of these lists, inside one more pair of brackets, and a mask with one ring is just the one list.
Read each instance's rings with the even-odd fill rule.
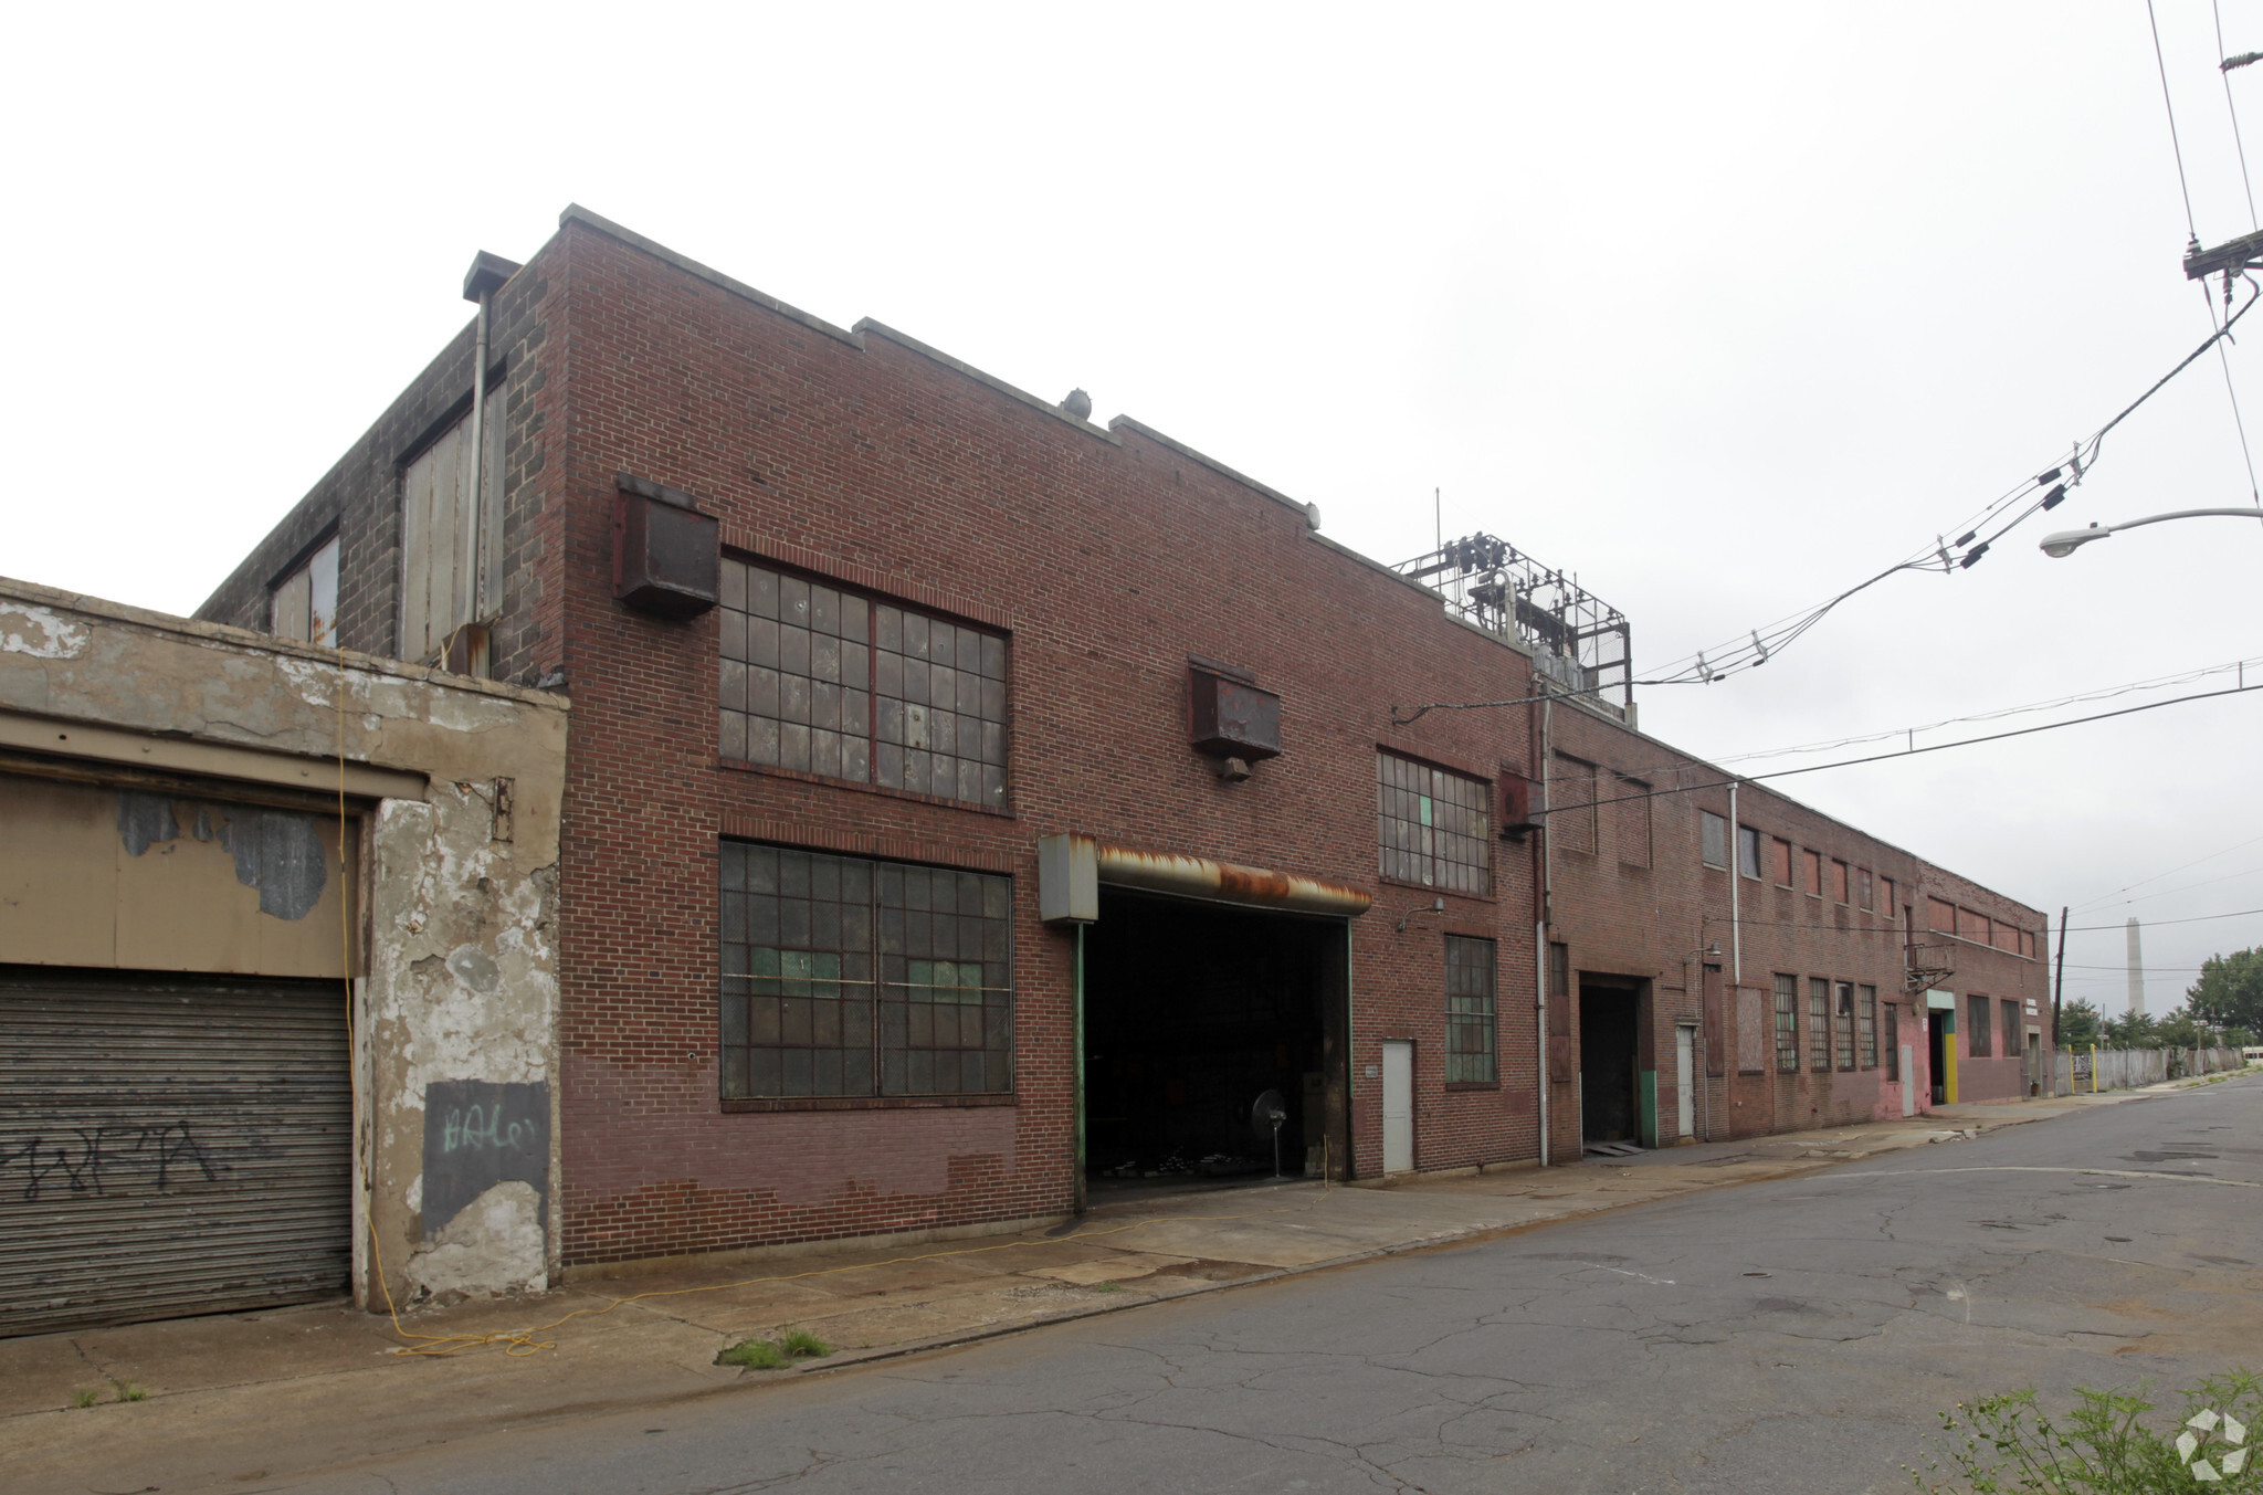
[[1288,1172],[1376,1178],[2010,1099],[2050,1043],[2034,909],[1138,421],[582,208],[466,294],[199,617],[573,697],[568,1271],[1270,1165],[1267,1092]]

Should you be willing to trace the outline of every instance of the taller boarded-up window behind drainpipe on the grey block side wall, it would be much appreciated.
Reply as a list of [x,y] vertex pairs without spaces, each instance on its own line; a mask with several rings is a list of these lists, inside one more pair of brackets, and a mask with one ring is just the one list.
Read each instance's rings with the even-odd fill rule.
[[[487,398],[487,477],[471,525],[471,416],[410,459],[401,475],[401,658],[434,660],[457,629],[502,611],[502,391]],[[484,581],[473,577],[480,559]]]

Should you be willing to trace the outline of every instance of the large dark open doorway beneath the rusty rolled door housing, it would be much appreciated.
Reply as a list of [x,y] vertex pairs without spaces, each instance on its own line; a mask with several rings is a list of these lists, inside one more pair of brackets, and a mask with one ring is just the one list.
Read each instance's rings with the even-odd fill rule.
[[1344,1176],[1344,921],[1102,893],[1084,945],[1084,1126],[1111,1194],[1270,1178],[1251,1104],[1279,1090],[1281,1172]]

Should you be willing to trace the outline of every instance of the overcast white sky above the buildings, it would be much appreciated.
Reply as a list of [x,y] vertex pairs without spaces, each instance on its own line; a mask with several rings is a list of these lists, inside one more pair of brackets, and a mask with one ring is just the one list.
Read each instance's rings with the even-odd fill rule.
[[[2254,219],[2211,7],[2159,11],[2213,244]],[[2263,2],[2222,25],[2263,50]],[[1448,534],[1577,570],[1645,663],[1955,538],[2209,330],[2143,0],[27,7],[5,34],[0,572],[181,613],[464,323],[473,251],[530,256],[568,201],[1084,384],[1380,559],[1428,550],[1442,489]],[[2263,66],[2231,88],[2263,167]],[[2243,656],[2263,683],[2263,525],[2034,550],[2247,502],[2211,353],[2053,525],[1647,690],[1643,726],[1727,755]],[[2068,995],[2114,1011],[2127,914],[2263,909],[2258,728],[2236,697],[1783,787],[2107,925]],[[2254,943],[2263,916],[2150,927],[2152,1009]]]

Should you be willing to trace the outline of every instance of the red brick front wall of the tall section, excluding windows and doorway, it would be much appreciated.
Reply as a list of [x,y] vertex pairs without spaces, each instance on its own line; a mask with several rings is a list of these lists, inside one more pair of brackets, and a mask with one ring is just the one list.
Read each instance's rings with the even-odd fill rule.
[[[862,351],[582,224],[561,235],[573,348],[561,597],[575,740],[563,848],[566,1260],[715,1251],[1070,1205],[1070,941],[1036,923],[1055,830],[1376,891],[1353,923],[1356,1167],[1380,1169],[1380,1040],[1417,1040],[1419,1165],[1534,1153],[1532,891],[1378,884],[1376,746],[1491,771],[1521,712],[1392,728],[1389,706],[1525,692],[1512,649],[1315,538],[1299,509],[1168,443],[1064,423],[883,332]],[[740,543],[803,547],[1012,633],[1009,814],[722,767],[715,622],[611,599],[616,470],[686,489]],[[1285,753],[1222,783],[1186,744],[1186,660],[1283,697]],[[917,846],[1016,875],[1012,1106],[722,1113],[715,841]],[[1500,941],[1503,1079],[1444,1088],[1442,932]]]

